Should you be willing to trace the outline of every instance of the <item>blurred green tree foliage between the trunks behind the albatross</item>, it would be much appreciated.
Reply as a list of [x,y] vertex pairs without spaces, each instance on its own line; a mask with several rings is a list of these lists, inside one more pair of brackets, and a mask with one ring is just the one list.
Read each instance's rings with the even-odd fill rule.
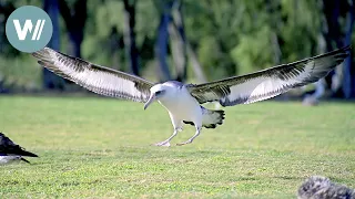
[[[68,3],[72,12],[75,3],[82,0],[62,1]],[[136,52],[140,56],[140,74],[159,80],[155,48],[159,35],[163,35],[159,27],[164,13],[171,17],[166,8],[169,9],[173,0],[126,0],[126,2],[134,4],[134,33]],[[344,0],[344,2],[341,8],[347,8],[353,1]],[[181,0],[181,3],[183,34],[186,45],[189,44],[185,46],[190,63],[187,78],[195,80],[193,71],[196,70],[191,69],[191,57],[193,57],[191,53],[197,57],[193,63],[199,61],[204,75],[211,81],[293,62],[324,51],[321,46],[322,42],[326,41],[324,24],[327,12],[324,10],[323,0]],[[3,0],[0,8],[6,4],[14,8],[23,4],[41,6],[41,0]],[[77,27],[83,30],[81,56],[122,71],[131,71],[123,42],[124,1],[87,0],[85,6],[85,25]],[[83,6],[82,9],[84,8]],[[345,11],[341,9],[339,13],[343,12],[345,15],[348,13],[346,9]],[[341,32],[335,36],[345,35],[344,19],[336,19]],[[60,49],[65,52],[71,42],[70,35],[65,35],[70,25],[63,17],[60,25],[62,38]],[[3,32],[0,33],[3,38]],[[0,42],[4,43],[4,40],[1,39]],[[171,78],[174,78],[176,74],[185,72],[182,70],[181,73],[175,69],[178,62],[173,52],[176,43],[169,40],[166,43],[169,48],[164,62],[172,75]],[[1,52],[16,54],[9,49],[11,50],[6,44],[0,48]]]

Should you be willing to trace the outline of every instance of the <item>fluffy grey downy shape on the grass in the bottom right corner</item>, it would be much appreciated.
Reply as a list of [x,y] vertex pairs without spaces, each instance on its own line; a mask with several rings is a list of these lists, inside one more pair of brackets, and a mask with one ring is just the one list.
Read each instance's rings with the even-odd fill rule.
[[355,190],[333,184],[328,178],[312,176],[298,188],[298,199],[355,199]]

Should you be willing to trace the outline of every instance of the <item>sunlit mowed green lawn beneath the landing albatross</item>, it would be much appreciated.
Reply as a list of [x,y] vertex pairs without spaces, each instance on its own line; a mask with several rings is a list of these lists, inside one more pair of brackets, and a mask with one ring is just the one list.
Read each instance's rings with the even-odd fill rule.
[[[355,187],[355,105],[226,107],[192,145],[166,111],[97,97],[0,96],[0,132],[40,158],[0,166],[0,198],[295,198],[312,175]],[[172,144],[194,134],[184,126]]]

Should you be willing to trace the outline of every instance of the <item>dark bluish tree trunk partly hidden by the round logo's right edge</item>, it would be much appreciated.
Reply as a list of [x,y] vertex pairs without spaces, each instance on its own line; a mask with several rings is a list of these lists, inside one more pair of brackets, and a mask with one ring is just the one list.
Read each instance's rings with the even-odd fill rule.
[[[59,50],[60,48],[58,6],[58,0],[44,0],[43,2],[44,11],[49,14],[53,24],[53,34],[50,42],[48,43],[48,46],[54,50]],[[64,80],[43,67],[43,87],[45,90],[63,90]]]

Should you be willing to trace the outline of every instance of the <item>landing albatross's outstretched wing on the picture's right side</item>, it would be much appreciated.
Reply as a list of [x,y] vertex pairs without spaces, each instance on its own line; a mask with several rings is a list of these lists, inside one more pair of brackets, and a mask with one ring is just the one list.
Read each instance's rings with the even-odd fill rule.
[[201,104],[219,101],[222,106],[233,106],[264,101],[326,76],[348,56],[349,49],[345,46],[252,74],[199,85],[189,84],[186,87]]

